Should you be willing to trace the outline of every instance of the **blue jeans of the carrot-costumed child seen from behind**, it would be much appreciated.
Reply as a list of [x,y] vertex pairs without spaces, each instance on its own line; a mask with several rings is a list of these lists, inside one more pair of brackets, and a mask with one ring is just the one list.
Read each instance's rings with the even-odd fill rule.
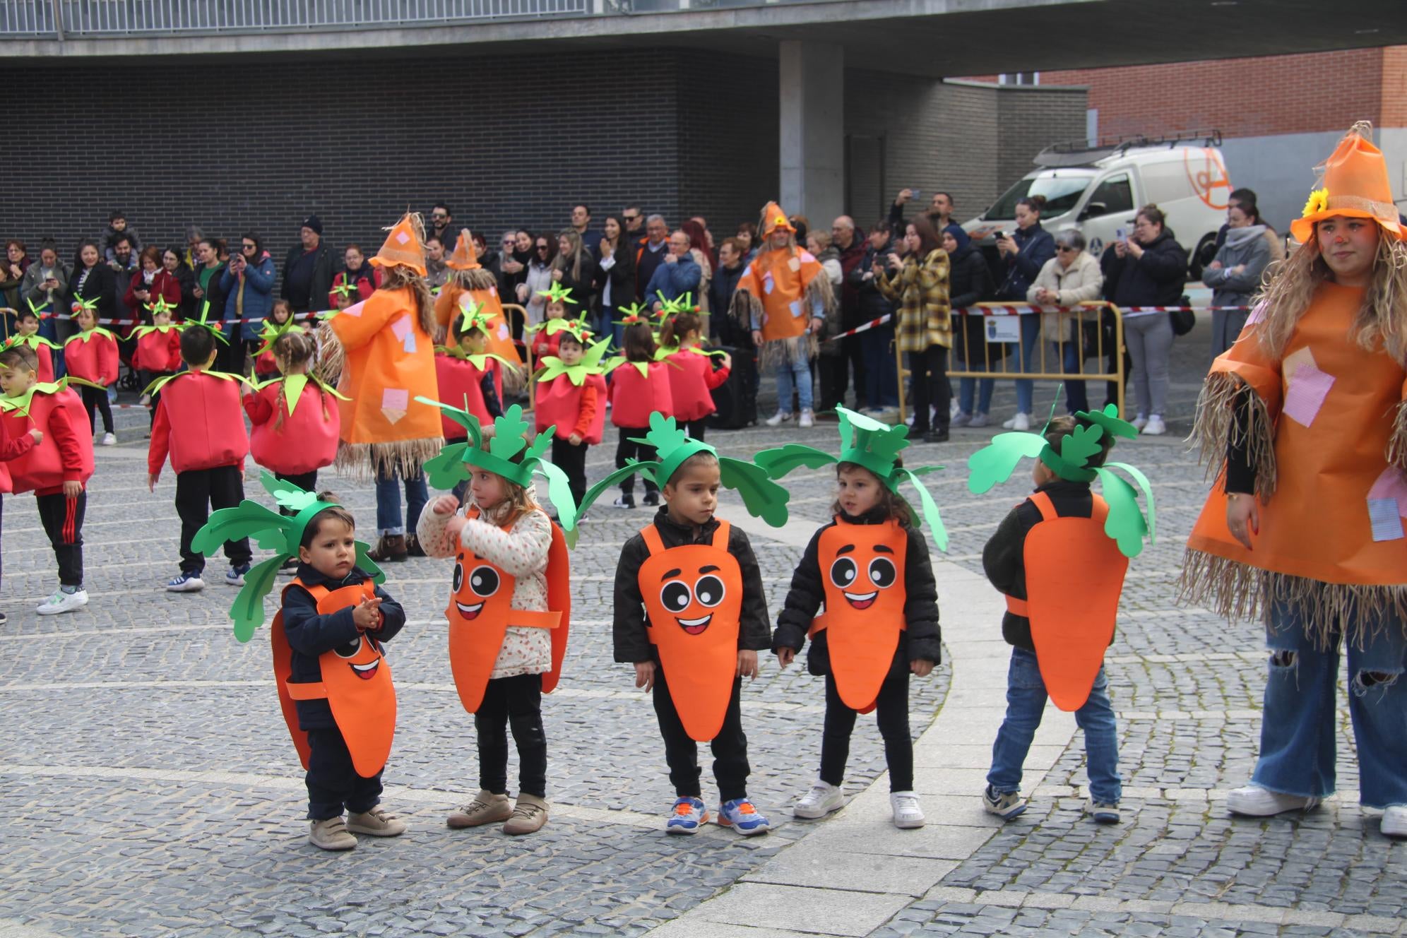
[[[998,792],[1021,790],[1021,765],[1036,738],[1045,710],[1045,682],[1041,681],[1036,655],[1026,648],[1012,648],[1012,667],[1006,672],[1006,719],[992,744],[992,771],[988,783]],[[1104,669],[1095,675],[1095,686],[1085,706],[1075,710],[1075,721],[1085,731],[1085,771],[1089,795],[1096,802],[1119,803],[1119,733],[1114,710],[1109,706]]]

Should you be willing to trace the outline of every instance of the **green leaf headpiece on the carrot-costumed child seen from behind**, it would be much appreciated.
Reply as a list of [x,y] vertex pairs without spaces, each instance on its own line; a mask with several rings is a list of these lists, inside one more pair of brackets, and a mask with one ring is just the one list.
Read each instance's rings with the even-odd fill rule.
[[[1075,432],[1061,437],[1057,450],[1045,440],[1045,428],[1040,433],[1016,432],[998,433],[992,443],[968,457],[968,491],[981,495],[1012,477],[1016,465],[1026,457],[1038,458],[1050,471],[1068,482],[1092,482],[1096,478],[1109,502],[1109,518],[1104,533],[1117,544],[1124,557],[1137,557],[1142,551],[1142,539],[1155,539],[1155,505],[1148,477],[1127,463],[1106,463],[1089,465],[1103,449],[1104,437],[1135,439],[1138,430],[1133,423],[1119,418],[1119,406],[1109,404],[1103,411],[1078,411]],[[1133,485],[1113,470],[1123,470],[1144,492],[1148,516],[1144,519],[1138,508],[1138,496]]]

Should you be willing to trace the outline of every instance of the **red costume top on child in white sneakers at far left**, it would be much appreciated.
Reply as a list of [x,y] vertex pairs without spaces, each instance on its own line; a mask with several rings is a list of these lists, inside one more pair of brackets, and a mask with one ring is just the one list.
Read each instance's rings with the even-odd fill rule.
[[93,436],[77,429],[89,426],[87,420],[83,401],[68,388],[58,394],[34,391],[27,413],[13,409],[0,415],[11,440],[30,430],[44,432],[44,440],[8,461],[11,491],[55,495],[65,482],[87,485],[93,477]]

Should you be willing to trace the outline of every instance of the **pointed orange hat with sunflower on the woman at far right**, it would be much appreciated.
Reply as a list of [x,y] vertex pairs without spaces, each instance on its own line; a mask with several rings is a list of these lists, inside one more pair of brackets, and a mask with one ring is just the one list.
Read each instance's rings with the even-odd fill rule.
[[1370,218],[1394,238],[1407,240],[1407,231],[1397,221],[1383,152],[1368,139],[1372,132],[1372,124],[1359,121],[1324,160],[1323,184],[1310,193],[1304,214],[1290,222],[1296,240],[1307,242],[1314,236],[1314,224],[1334,215]]

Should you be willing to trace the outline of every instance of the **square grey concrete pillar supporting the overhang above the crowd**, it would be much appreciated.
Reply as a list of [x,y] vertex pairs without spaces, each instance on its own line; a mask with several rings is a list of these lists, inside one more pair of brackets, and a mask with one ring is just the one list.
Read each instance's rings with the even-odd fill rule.
[[781,44],[781,205],[822,231],[846,204],[846,53],[839,45]]

